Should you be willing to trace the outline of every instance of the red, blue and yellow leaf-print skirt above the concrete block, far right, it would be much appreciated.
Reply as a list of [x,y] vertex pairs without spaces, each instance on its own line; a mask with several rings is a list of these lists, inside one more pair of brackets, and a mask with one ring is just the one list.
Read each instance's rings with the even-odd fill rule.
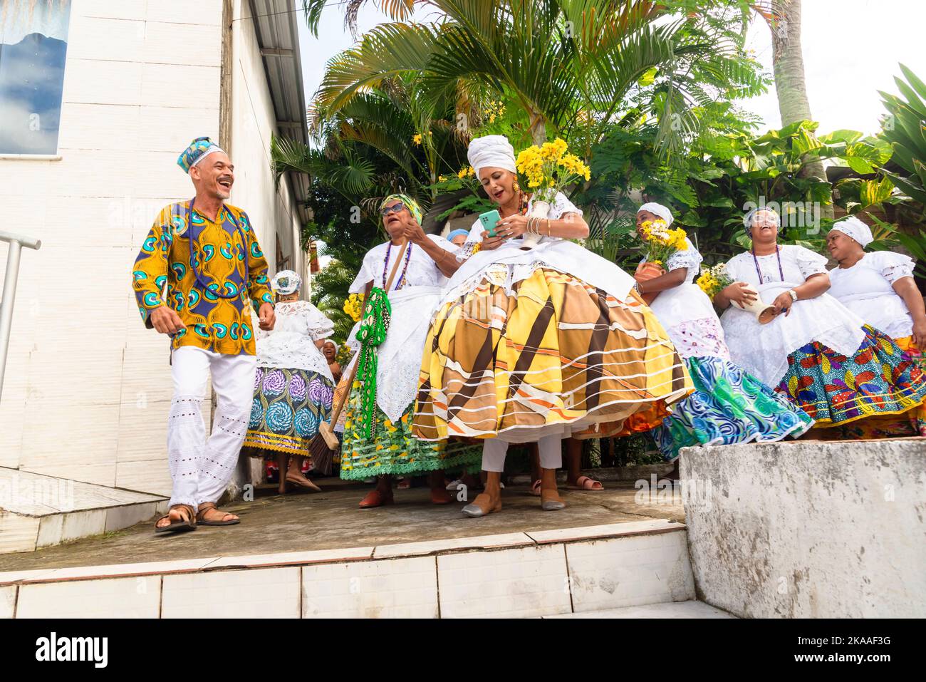
[[815,428],[919,410],[926,398],[926,375],[910,355],[869,324],[862,329],[850,358],[817,341],[788,356],[775,390],[816,420]]

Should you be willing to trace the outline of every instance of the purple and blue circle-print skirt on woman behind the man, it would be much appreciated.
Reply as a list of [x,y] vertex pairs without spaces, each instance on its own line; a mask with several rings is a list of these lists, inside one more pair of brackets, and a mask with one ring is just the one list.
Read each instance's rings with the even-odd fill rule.
[[317,372],[258,367],[244,448],[307,457],[319,424],[331,418],[333,395],[332,383]]

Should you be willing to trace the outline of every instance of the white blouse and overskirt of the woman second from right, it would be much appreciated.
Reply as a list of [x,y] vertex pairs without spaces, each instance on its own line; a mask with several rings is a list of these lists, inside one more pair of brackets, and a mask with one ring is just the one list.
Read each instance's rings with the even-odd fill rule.
[[[804,246],[782,245],[779,255],[781,272],[775,254],[753,260],[747,251],[727,261],[727,273],[733,282],[751,284],[759,298],[770,304],[811,275],[826,272],[826,259]],[[720,322],[733,362],[772,387],[781,382],[788,355],[798,348],[817,341],[837,353],[852,355],[865,336],[861,318],[829,294],[795,301],[789,315],[778,315],[768,324],[759,324],[752,313],[733,305],[720,316]]]

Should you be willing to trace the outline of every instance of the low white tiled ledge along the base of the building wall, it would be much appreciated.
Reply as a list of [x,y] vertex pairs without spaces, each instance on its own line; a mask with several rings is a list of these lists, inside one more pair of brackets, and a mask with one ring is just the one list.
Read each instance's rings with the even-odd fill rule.
[[0,467],[0,554],[34,551],[150,519],[168,499]]

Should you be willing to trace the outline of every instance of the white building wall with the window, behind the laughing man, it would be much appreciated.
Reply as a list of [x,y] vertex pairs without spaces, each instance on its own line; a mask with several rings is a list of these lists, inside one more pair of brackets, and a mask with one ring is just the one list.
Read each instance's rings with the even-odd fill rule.
[[73,2],[60,160],[0,158],[6,230],[43,242],[21,259],[0,466],[169,491],[168,344],[131,264],[157,210],[192,196],[180,150],[218,137],[220,18],[221,0]]

